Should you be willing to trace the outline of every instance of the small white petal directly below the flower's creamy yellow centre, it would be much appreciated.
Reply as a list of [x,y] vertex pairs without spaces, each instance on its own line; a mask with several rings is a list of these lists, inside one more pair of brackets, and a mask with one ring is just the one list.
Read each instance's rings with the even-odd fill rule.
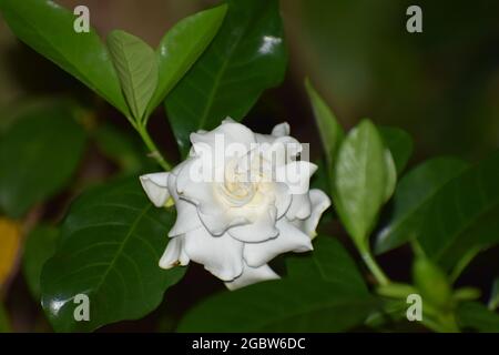
[[275,227],[276,214],[276,207],[268,206],[253,223],[233,226],[227,233],[246,243],[267,241],[279,233]]

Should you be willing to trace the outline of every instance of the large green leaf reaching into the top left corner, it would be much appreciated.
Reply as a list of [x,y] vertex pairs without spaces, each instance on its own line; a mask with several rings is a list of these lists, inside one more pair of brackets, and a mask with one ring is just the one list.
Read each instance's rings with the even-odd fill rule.
[[49,0],[2,0],[0,11],[21,41],[129,115],[109,52],[93,29],[77,33],[75,16]]

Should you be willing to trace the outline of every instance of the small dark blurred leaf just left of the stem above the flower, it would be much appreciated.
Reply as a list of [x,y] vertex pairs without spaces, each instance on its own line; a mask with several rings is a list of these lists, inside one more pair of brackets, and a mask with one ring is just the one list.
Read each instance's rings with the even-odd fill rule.
[[138,173],[146,166],[147,153],[133,135],[111,124],[101,124],[92,136],[99,150],[120,166],[121,172]]

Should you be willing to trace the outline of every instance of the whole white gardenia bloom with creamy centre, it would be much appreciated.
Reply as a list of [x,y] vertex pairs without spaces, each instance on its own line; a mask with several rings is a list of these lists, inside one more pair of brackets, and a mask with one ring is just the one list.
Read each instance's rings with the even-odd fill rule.
[[278,278],[267,265],[275,256],[313,250],[330,200],[308,189],[317,166],[299,160],[303,144],[287,123],[265,135],[227,119],[192,133],[191,143],[190,158],[171,172],[141,176],[155,206],[172,199],[176,207],[161,267],[194,261],[235,290]]

